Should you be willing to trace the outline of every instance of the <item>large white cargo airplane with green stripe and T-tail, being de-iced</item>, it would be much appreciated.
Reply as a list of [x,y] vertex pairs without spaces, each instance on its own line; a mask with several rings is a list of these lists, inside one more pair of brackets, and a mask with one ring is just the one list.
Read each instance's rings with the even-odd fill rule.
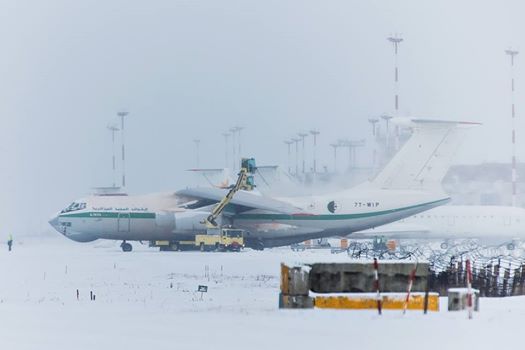
[[[441,189],[464,131],[479,123],[396,119],[412,136],[371,181],[319,196],[269,197],[239,191],[219,218],[245,230],[247,247],[262,250],[307,239],[346,235],[391,223],[450,201]],[[186,240],[207,230],[205,219],[226,189],[187,188],[143,196],[89,196],[49,223],[78,242]]]

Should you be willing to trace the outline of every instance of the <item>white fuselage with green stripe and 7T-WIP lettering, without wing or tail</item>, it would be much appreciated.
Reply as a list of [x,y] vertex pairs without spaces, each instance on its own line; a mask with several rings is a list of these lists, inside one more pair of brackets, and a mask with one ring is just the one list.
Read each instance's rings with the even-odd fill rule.
[[[444,204],[448,198],[423,191],[363,189],[329,196],[281,198],[297,214],[248,210],[223,220],[247,231],[247,240],[278,246],[309,238],[348,234],[393,222]],[[183,209],[173,194],[91,196],[76,201],[50,223],[64,236],[87,242],[181,240],[203,233],[210,207]]]

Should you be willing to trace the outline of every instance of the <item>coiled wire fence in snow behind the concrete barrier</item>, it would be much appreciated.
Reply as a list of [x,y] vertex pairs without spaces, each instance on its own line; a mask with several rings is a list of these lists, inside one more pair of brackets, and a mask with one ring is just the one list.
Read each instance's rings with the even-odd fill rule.
[[377,249],[371,242],[354,241],[347,249],[351,259],[428,261],[429,289],[446,295],[449,288],[466,286],[466,260],[472,264],[472,287],[482,297],[525,295],[525,252],[507,246],[482,246],[463,240],[443,243],[409,242],[396,249]]

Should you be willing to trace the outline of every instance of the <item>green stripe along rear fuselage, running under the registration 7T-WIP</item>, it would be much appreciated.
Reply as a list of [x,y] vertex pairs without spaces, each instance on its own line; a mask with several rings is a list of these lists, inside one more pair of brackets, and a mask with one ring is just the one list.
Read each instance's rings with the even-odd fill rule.
[[423,204],[412,205],[404,208],[389,209],[383,211],[376,211],[371,213],[359,213],[359,214],[321,214],[321,215],[288,215],[288,214],[240,214],[234,217],[237,220],[349,220],[349,219],[360,219],[368,218],[372,216],[393,214],[400,211],[416,209],[429,205],[437,205],[441,202],[448,202],[450,198],[440,199],[434,202],[428,202]]

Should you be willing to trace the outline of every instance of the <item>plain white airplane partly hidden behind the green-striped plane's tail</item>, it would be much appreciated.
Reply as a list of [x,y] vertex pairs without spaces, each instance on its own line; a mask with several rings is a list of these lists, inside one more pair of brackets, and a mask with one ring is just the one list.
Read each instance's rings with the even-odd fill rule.
[[384,236],[392,239],[477,240],[481,244],[515,249],[525,239],[525,208],[510,206],[445,205],[380,227],[355,232],[351,238]]

